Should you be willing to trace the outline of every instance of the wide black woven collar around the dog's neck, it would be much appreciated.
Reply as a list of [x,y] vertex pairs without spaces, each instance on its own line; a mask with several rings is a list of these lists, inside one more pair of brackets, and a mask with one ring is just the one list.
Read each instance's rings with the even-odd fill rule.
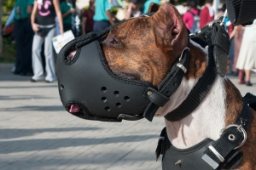
[[208,65],[207,70],[195,87],[191,90],[188,97],[174,111],[167,113],[165,118],[175,122],[188,116],[195,111],[201,101],[205,99],[212,88],[217,75],[224,77],[227,65],[227,55],[230,48],[229,34],[220,26],[218,20],[205,26],[199,33],[190,36],[191,39],[205,48],[208,45]]

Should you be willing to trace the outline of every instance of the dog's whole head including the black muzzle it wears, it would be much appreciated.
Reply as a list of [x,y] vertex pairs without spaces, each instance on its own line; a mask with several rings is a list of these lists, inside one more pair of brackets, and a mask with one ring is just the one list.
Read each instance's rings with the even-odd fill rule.
[[[127,20],[110,31],[79,37],[61,49],[57,71],[61,101],[67,111],[115,118],[142,116],[150,100],[156,105],[166,104],[168,98],[156,88],[187,47],[189,35],[172,5],[152,4],[149,12],[155,13]],[[98,37],[101,41],[93,41]],[[154,91],[152,97],[147,97],[152,95],[148,90]],[[119,96],[120,91],[123,96]]]

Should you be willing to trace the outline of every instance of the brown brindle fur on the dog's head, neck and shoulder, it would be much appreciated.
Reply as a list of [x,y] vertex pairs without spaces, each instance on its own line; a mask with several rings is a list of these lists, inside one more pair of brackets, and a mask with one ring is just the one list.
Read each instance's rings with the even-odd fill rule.
[[[103,51],[110,69],[119,77],[139,79],[158,86],[188,43],[187,29],[177,9],[171,5],[151,5],[152,17],[139,17],[114,27],[103,41]],[[132,33],[131,33],[132,32]],[[198,78],[207,68],[207,54],[189,44],[187,79]],[[225,124],[232,124],[242,108],[241,94],[229,81],[225,82]],[[240,169],[255,169],[256,120],[247,131],[247,142],[241,147],[244,158]]]

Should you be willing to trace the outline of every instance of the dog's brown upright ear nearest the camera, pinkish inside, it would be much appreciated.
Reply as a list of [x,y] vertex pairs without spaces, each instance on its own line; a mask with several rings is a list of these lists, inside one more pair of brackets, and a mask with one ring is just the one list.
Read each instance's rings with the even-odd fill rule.
[[177,57],[187,46],[189,34],[177,8],[170,4],[161,5],[153,15],[155,37],[160,47],[172,50]]

